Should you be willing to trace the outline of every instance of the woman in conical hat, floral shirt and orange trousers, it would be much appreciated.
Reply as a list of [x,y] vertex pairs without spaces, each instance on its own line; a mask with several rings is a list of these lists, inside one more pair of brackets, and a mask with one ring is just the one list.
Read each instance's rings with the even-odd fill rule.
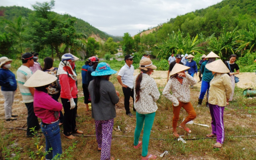
[[[179,125],[179,128],[184,129],[188,133],[191,133],[191,130],[185,125],[187,122],[197,117],[194,107],[190,102],[189,89],[189,85],[196,84],[197,80],[194,79],[191,75],[185,73],[185,70],[187,69],[190,69],[190,67],[176,63],[173,67],[173,70],[171,70],[171,78],[165,86],[165,89],[163,89],[163,95],[166,96],[166,98],[168,98],[171,102],[173,102],[173,135],[175,137],[179,137],[176,128],[181,108],[184,108],[189,115]],[[170,91],[173,93],[172,95],[170,94]]]

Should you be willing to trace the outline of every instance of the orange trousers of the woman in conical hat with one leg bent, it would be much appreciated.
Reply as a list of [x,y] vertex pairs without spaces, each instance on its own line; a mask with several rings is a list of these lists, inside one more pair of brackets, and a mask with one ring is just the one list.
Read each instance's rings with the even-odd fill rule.
[[183,103],[179,101],[178,106],[173,105],[173,128],[177,128],[177,121],[179,120],[179,111],[181,110],[181,107],[186,110],[186,112],[189,114],[184,121],[191,121],[197,117],[197,114],[195,113],[194,107],[192,104],[189,103]]

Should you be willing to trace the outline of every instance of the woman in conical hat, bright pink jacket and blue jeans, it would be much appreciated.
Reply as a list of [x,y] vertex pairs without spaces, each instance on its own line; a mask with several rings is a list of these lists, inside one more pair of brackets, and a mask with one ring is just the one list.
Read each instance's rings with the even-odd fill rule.
[[[41,130],[46,141],[46,159],[53,159],[62,154],[61,135],[59,129],[59,111],[62,104],[48,95],[47,87],[57,80],[57,77],[37,70],[25,83],[25,87],[34,87],[34,112],[42,119]],[[52,150],[50,151],[50,148]],[[50,152],[49,152],[50,151]],[[58,157],[55,157],[58,159]]]

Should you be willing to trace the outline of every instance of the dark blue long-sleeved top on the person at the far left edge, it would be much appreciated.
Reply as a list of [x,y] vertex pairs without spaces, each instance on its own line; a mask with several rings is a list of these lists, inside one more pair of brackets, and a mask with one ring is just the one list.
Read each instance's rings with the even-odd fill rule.
[[8,69],[1,68],[0,86],[2,91],[15,91],[17,89],[15,74]]

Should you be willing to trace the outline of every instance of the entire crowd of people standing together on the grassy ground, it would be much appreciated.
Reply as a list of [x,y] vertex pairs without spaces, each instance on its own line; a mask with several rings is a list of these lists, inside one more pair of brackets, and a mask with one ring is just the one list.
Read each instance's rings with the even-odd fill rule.
[[[191,130],[186,123],[195,119],[197,114],[190,102],[190,85],[193,86],[197,80],[193,78],[198,69],[193,55],[185,55],[186,65],[182,63],[182,56],[177,54],[175,60],[170,62],[167,85],[162,94],[173,103],[173,135],[179,137],[177,122],[179,112],[183,107],[188,116],[179,128],[188,133]],[[172,54],[171,57],[174,57]],[[139,63],[140,73],[134,76],[133,56],[125,56],[125,65],[120,69],[117,80],[122,86],[125,96],[124,106],[126,114],[133,117],[130,112],[130,97],[133,98],[133,110],[136,111],[136,128],[134,133],[134,148],[142,145],[141,159],[156,159],[156,155],[148,153],[148,145],[151,128],[153,126],[155,112],[158,107],[156,101],[160,97],[157,83],[150,74],[157,67],[152,64],[150,58],[142,58]],[[183,57],[184,58],[184,57]],[[212,117],[212,132],[207,137],[217,137],[214,147],[221,148],[224,141],[224,107],[232,101],[234,93],[234,74],[239,73],[239,67],[235,63],[236,56],[231,55],[230,61],[223,63],[213,52],[202,56],[199,71],[203,75],[198,106],[201,106],[202,99],[207,91],[207,105]],[[29,128],[35,130],[41,128],[46,138],[46,152],[53,148],[46,159],[52,159],[62,153],[59,125],[63,123],[64,136],[73,139],[72,133],[82,134],[78,130],[75,117],[77,114],[77,74],[75,73],[75,61],[77,57],[67,53],[62,56],[58,68],[53,67],[53,60],[49,57],[44,59],[44,67],[41,68],[38,62],[38,54],[25,53],[22,55],[22,66],[17,70],[17,81],[19,90],[28,111],[27,136],[32,136]],[[173,59],[173,58],[172,58]],[[12,62],[7,57],[0,58],[0,85],[5,97],[6,120],[16,120],[17,115],[12,114],[11,106],[14,99],[17,83],[15,75],[9,70]],[[201,62],[201,61],[200,61]],[[30,67],[35,63],[40,68],[32,72]],[[37,65],[36,64],[36,65]],[[194,65],[195,64],[195,65]],[[194,67],[196,66],[196,67]],[[236,72],[234,72],[236,70]],[[95,119],[96,140],[98,151],[101,151],[101,160],[112,160],[110,155],[111,137],[116,117],[115,104],[119,102],[119,93],[115,90],[113,83],[109,81],[112,74],[117,73],[110,68],[109,64],[101,62],[96,56],[88,58],[82,66],[82,87],[85,97],[86,111],[89,111],[88,104],[91,103],[92,117]],[[226,74],[228,73],[228,74]],[[201,81],[201,79],[200,79]],[[170,91],[172,94],[170,94]],[[61,96],[61,102],[58,98]],[[64,115],[61,110],[64,108]],[[39,125],[38,118],[42,119]],[[143,129],[143,139],[139,136]]]

